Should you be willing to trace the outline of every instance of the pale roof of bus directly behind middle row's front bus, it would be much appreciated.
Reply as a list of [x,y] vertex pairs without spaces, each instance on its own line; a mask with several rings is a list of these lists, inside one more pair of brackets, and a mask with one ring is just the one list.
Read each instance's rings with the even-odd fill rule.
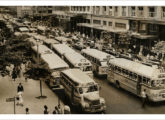
[[60,54],[63,55],[65,53],[75,52],[72,48],[65,44],[53,44],[53,48]]

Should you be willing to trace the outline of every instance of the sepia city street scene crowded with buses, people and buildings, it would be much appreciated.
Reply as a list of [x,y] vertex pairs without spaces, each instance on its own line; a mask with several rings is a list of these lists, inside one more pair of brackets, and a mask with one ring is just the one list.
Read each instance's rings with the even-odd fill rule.
[[165,7],[0,6],[0,114],[164,114]]

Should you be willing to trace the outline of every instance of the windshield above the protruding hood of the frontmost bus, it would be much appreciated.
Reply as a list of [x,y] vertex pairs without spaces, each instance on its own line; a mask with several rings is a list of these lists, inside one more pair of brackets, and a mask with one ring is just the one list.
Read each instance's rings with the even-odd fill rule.
[[89,93],[89,92],[95,92],[98,91],[98,86],[97,85],[91,85],[89,87],[80,87],[79,89],[79,93],[83,94],[83,93]]

